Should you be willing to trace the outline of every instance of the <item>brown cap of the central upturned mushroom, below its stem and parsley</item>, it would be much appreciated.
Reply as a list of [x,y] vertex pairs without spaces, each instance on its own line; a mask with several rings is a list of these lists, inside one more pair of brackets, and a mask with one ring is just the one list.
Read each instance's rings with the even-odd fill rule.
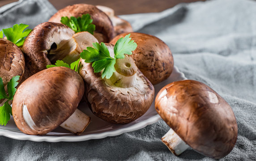
[[91,63],[81,59],[81,64],[79,74],[85,80],[85,97],[99,118],[110,123],[130,123],[149,109],[154,99],[154,86],[139,70],[137,89],[121,88],[108,85],[100,72],[94,73]]

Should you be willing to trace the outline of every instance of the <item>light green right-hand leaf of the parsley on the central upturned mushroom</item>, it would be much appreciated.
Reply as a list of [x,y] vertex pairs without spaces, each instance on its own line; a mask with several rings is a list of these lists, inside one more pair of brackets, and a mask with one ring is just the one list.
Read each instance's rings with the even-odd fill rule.
[[137,47],[137,43],[132,38],[131,34],[126,35],[124,38],[119,38],[115,43],[114,53],[117,59],[124,59],[124,54],[131,55]]

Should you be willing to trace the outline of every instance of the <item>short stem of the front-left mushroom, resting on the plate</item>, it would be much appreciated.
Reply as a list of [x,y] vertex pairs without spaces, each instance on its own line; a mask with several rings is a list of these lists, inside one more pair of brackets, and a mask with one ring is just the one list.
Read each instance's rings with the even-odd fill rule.
[[60,127],[72,132],[73,134],[81,134],[90,123],[90,116],[76,109],[75,112]]

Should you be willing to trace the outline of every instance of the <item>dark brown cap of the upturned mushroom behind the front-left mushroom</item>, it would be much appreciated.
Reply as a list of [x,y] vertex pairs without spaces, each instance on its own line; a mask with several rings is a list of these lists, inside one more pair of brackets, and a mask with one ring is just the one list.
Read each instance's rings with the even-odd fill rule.
[[37,25],[27,36],[23,44],[23,52],[26,59],[25,78],[46,69],[51,65],[47,54],[51,45],[58,46],[63,40],[68,40],[75,32],[68,26],[55,23],[44,22]]

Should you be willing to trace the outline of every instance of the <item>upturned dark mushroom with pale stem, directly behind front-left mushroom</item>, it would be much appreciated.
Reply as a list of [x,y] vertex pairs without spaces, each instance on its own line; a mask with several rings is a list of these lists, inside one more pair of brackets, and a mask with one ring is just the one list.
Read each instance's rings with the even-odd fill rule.
[[23,51],[26,59],[25,77],[46,69],[56,60],[71,64],[80,58],[82,49],[92,47],[98,40],[88,32],[75,32],[68,26],[55,22],[37,25],[28,35]]

